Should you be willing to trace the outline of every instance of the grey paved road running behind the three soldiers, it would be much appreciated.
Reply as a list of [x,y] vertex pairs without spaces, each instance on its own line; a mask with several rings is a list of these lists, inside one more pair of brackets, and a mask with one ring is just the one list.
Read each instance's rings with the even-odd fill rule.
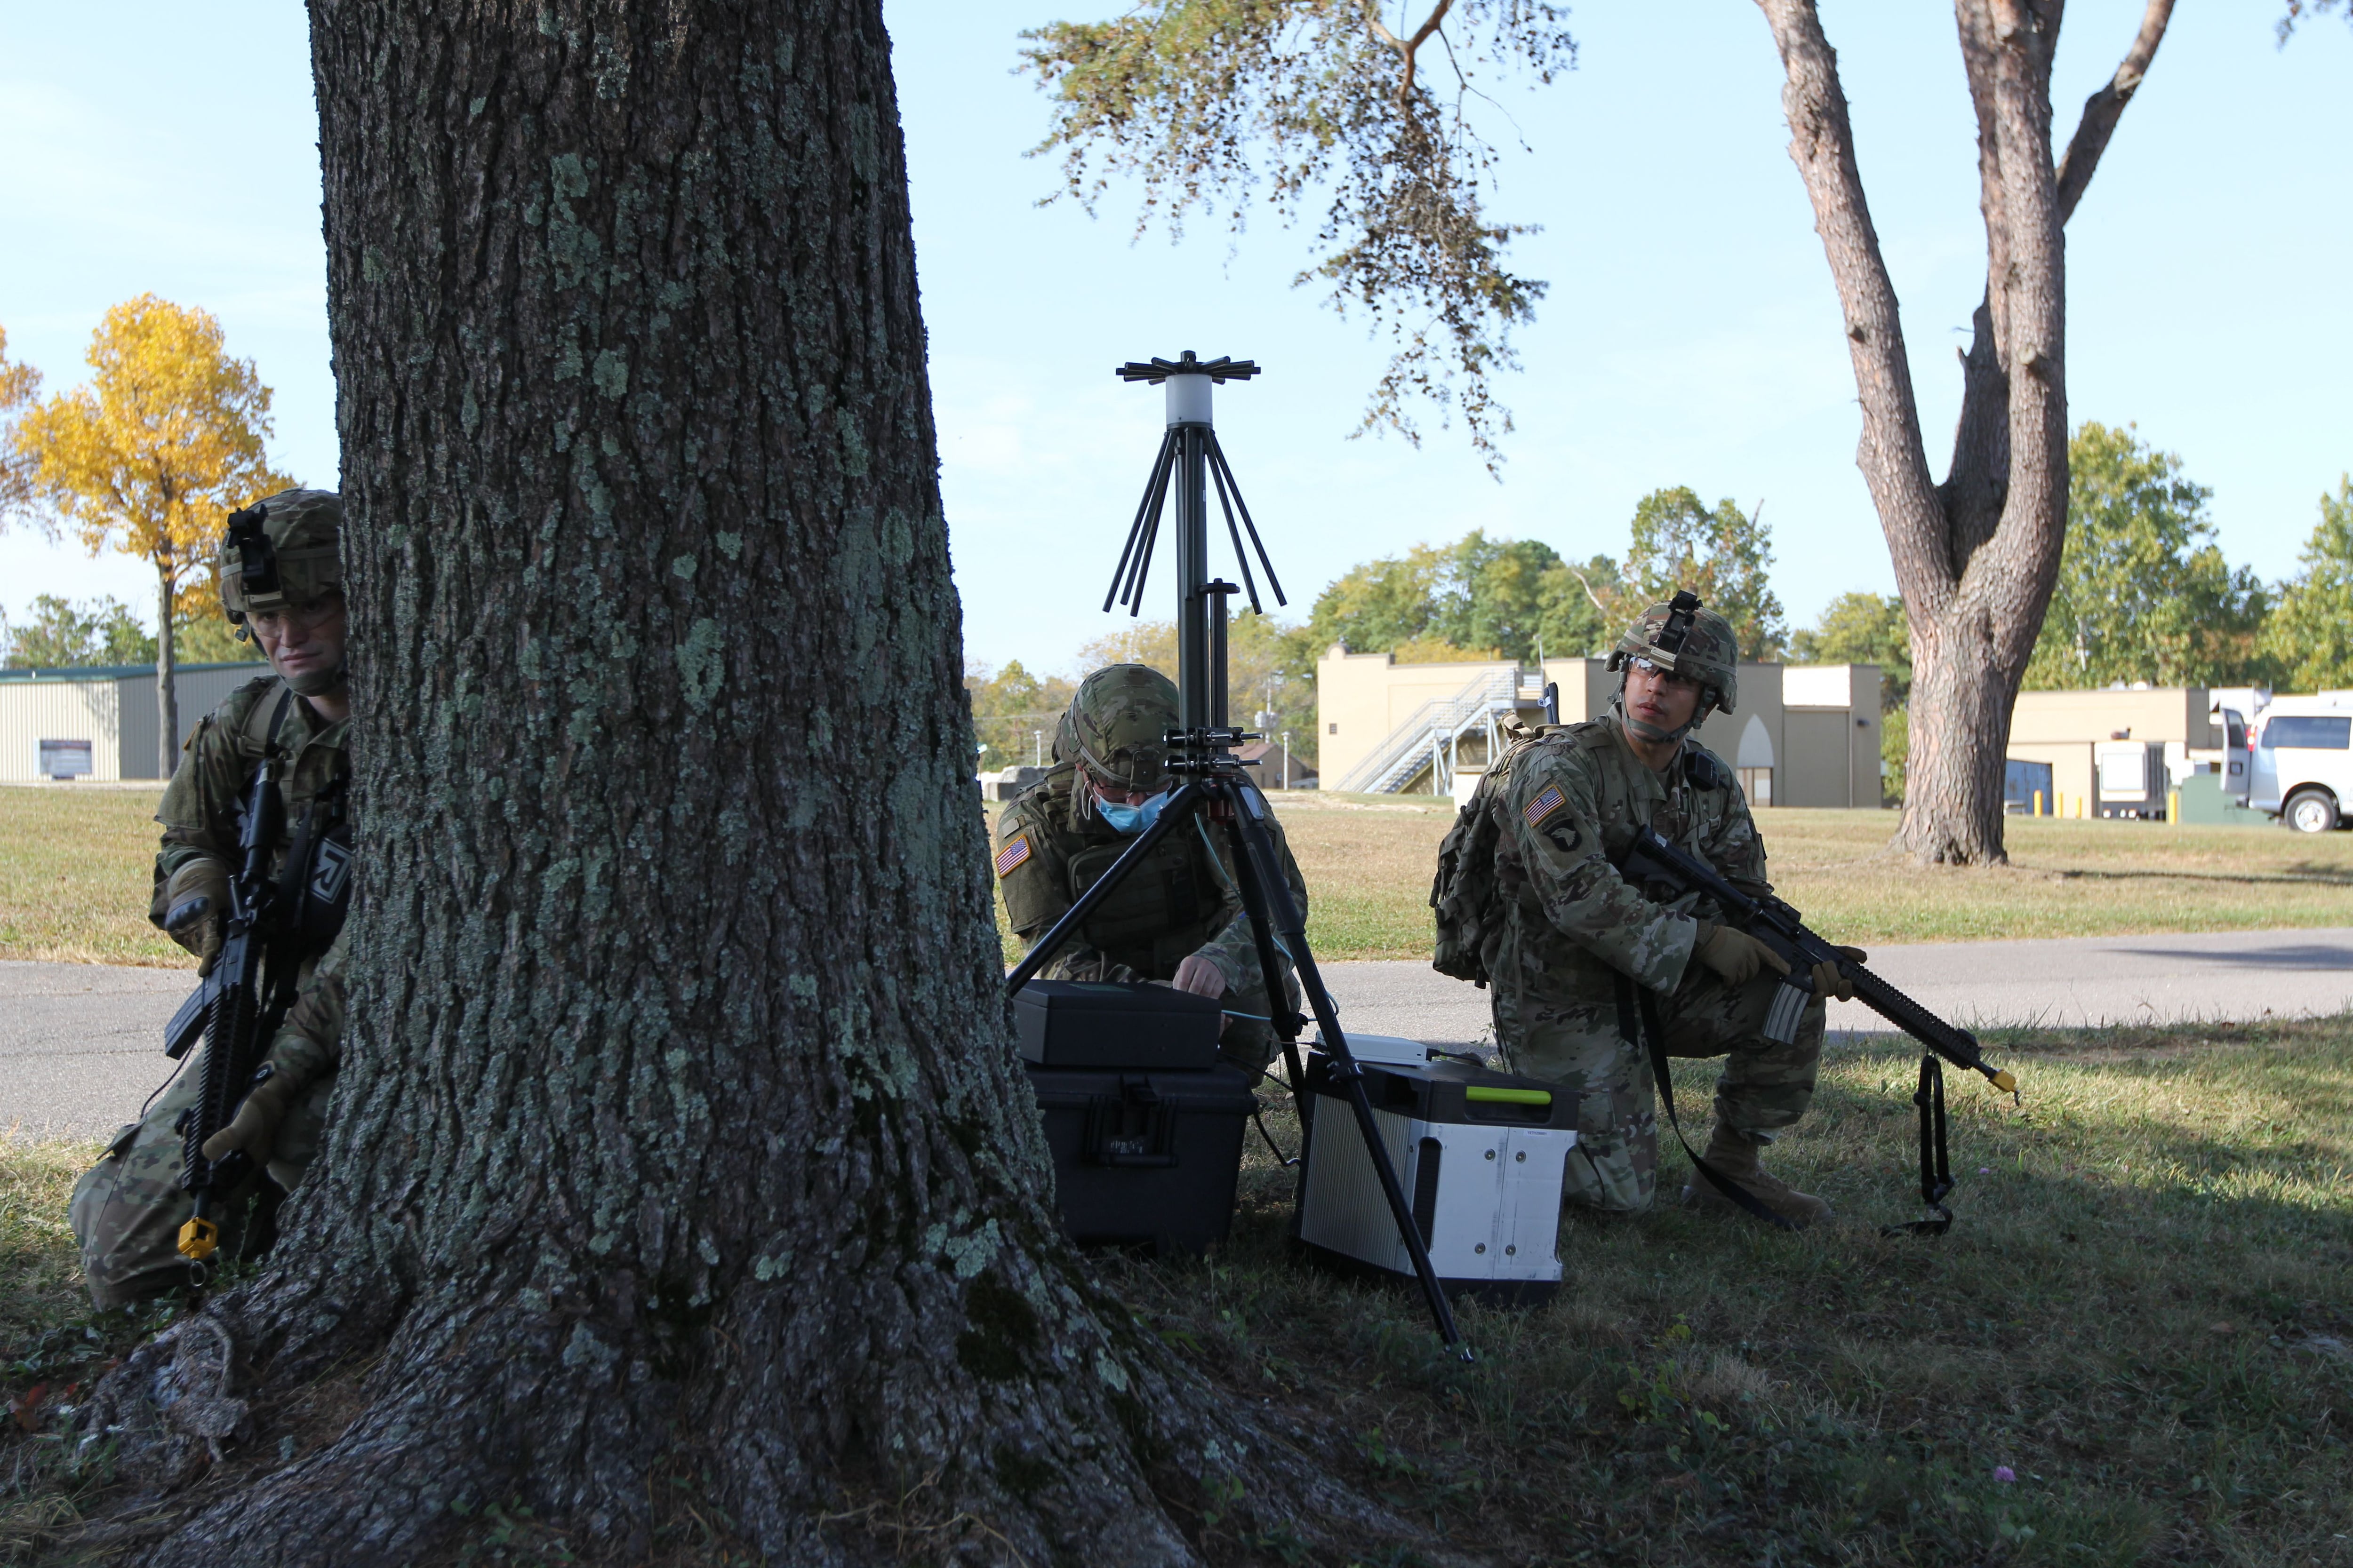
[[[2353,1006],[2353,926],[2207,936],[1880,947],[1871,966],[1969,1025],[2101,1025],[2304,1018]],[[1428,964],[1327,964],[1341,1020],[1369,1034],[1468,1046],[1487,992]],[[0,1133],[104,1138],[162,1084],[162,1025],[191,971],[0,961]],[[1887,1032],[1861,1004],[1831,1027]]]

